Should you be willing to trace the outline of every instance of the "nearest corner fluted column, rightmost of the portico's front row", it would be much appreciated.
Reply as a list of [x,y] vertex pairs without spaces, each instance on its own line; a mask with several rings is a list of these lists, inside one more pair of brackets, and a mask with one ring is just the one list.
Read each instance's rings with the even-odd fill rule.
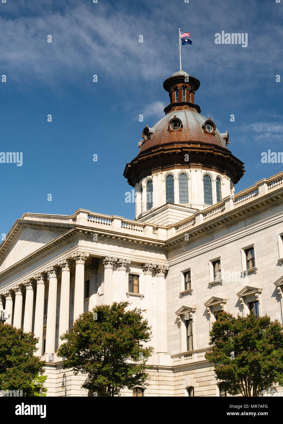
[[76,262],[75,273],[75,299],[74,299],[74,321],[83,313],[83,295],[84,295],[84,264],[89,257],[89,253],[75,252],[72,259]]

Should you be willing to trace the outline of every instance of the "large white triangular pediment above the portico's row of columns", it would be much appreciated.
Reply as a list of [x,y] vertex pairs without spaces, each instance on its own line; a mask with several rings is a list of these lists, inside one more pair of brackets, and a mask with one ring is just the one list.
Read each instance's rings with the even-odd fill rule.
[[51,241],[60,237],[68,228],[60,224],[18,222],[0,249],[0,272],[33,254]]

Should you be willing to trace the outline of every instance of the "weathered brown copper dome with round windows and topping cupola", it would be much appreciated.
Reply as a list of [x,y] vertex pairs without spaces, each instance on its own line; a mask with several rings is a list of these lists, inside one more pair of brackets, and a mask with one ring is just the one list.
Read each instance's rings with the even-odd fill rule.
[[170,104],[161,120],[144,127],[139,153],[125,167],[128,183],[135,187],[153,173],[190,168],[216,171],[236,184],[244,175],[244,164],[228,149],[228,132],[220,133],[194,103],[200,81],[180,70],[167,78],[163,87]]

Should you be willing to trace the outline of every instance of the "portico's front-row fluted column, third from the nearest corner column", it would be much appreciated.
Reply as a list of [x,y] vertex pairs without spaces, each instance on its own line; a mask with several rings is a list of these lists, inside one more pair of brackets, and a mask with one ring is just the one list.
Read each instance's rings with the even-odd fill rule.
[[55,352],[57,276],[59,268],[50,266],[45,270],[45,272],[49,274],[46,343],[44,352],[48,355],[54,354]]

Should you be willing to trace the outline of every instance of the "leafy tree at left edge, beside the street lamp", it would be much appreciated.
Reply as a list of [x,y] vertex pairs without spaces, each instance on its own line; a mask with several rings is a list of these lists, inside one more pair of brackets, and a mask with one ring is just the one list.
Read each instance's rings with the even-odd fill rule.
[[0,323],[0,389],[22,396],[46,396],[44,362],[37,356],[38,339],[10,324]]

